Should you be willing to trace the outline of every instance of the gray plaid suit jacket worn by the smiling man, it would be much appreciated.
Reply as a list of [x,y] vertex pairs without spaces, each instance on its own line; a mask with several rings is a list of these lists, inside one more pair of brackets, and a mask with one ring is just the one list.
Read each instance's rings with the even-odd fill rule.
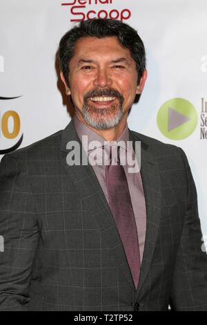
[[133,131],[130,138],[141,140],[147,211],[137,290],[92,167],[66,163],[68,141],[79,141],[70,122],[1,161],[0,310],[207,310],[186,156]]

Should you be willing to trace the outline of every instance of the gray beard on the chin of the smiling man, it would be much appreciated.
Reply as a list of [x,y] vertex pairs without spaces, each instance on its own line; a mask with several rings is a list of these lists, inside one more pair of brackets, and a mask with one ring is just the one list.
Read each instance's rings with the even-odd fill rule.
[[[117,111],[113,113],[113,111]],[[113,117],[108,117],[108,113],[112,111]],[[111,113],[110,113],[111,114]],[[95,116],[93,116],[95,115]],[[116,127],[119,124],[123,115],[121,104],[119,106],[112,106],[111,109],[97,109],[94,106],[83,103],[83,120],[95,129],[108,130]]]

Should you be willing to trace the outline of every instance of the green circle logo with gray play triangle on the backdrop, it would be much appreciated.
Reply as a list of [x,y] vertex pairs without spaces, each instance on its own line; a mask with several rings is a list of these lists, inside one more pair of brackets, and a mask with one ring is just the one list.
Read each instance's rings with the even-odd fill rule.
[[183,98],[172,98],[161,105],[157,113],[157,125],[166,138],[188,138],[197,126],[197,111]]

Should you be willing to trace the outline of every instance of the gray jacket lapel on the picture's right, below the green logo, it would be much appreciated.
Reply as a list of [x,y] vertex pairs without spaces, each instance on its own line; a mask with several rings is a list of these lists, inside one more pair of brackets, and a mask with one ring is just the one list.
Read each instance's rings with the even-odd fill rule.
[[152,154],[152,149],[150,149],[150,146],[146,144],[144,138],[142,138],[141,135],[137,136],[137,134],[130,131],[130,140],[133,141],[134,146],[135,141],[141,141],[140,172],[146,201],[146,239],[144,255],[141,263],[139,285],[137,288],[137,295],[139,295],[141,287],[148,275],[157,241],[161,207],[161,180],[156,156]]

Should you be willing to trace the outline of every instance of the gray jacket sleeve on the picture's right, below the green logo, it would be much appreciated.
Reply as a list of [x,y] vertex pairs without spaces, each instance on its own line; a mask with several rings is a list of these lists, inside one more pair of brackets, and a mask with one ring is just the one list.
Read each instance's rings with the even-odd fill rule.
[[[180,149],[181,150],[181,149]],[[197,208],[197,192],[184,151],[188,199],[175,269],[172,277],[172,310],[207,310],[207,255],[201,250],[202,234]]]

